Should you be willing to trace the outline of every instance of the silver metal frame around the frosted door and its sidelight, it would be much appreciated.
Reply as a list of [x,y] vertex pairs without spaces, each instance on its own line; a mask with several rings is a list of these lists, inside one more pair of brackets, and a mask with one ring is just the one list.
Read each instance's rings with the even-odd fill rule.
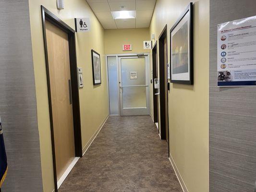
[[[108,96],[109,96],[109,72],[108,72],[108,57],[113,57],[115,56],[116,57],[116,61],[117,61],[117,86],[118,86],[118,109],[119,109],[119,116],[121,116],[121,107],[120,107],[120,94],[119,94],[119,58],[120,57],[137,57],[138,55],[144,55],[145,59],[146,59],[146,69],[147,69],[147,84],[149,84],[150,80],[150,53],[128,53],[128,54],[108,54],[108,55],[105,55],[106,57],[106,66],[107,66],[107,84],[108,84]],[[148,90],[149,92],[149,90]],[[147,92],[147,93],[148,93]],[[148,102],[148,114],[149,114],[149,108],[150,108],[150,101],[149,101],[150,97],[148,97],[147,99],[147,102]],[[109,97],[109,115],[110,115],[110,97]]]

